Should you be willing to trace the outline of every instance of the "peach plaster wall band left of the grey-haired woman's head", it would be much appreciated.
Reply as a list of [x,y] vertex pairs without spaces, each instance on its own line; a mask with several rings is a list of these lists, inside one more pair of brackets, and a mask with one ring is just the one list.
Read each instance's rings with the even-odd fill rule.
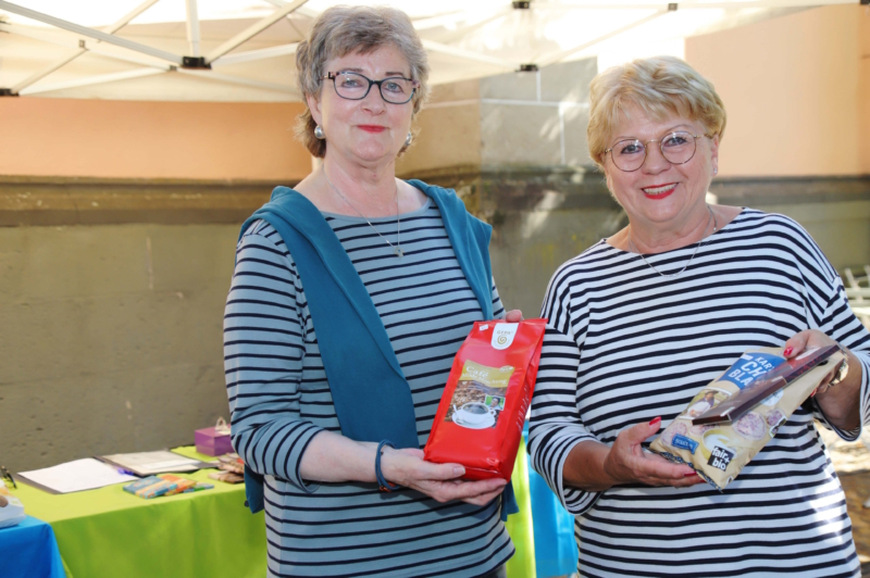
[[299,180],[301,106],[0,98],[0,175]]

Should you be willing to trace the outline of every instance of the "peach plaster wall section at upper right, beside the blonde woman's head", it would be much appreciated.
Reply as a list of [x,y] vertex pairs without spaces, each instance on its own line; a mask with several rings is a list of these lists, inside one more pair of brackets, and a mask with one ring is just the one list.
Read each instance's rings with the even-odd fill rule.
[[729,113],[720,176],[870,174],[868,21],[825,7],[686,39]]

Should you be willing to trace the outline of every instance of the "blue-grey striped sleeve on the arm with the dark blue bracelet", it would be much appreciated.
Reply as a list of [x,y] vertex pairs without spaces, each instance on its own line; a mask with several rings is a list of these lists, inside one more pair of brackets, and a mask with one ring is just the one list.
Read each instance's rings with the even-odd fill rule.
[[302,454],[321,431],[299,414],[306,299],[286,247],[262,230],[253,224],[238,243],[224,314],[232,441],[253,472],[313,491],[299,475]]

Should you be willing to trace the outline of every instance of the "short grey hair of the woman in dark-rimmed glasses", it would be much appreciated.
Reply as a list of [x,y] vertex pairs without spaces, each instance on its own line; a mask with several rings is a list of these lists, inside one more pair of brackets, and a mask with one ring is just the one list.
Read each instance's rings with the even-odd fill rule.
[[[323,66],[326,61],[351,52],[363,54],[393,46],[411,66],[411,79],[420,83],[413,97],[413,114],[428,97],[428,59],[411,18],[387,7],[333,7],[314,21],[308,38],[296,48],[296,71],[306,112],[299,116],[297,135],[312,155],[323,159],[326,141],[314,136],[318,124],[308,109],[308,97],[320,97]],[[405,148],[402,148],[402,151]]]

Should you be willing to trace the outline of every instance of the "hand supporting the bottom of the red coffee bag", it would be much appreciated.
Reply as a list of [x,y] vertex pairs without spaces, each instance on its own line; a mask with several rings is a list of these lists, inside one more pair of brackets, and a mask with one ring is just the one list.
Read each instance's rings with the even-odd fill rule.
[[501,478],[481,481],[459,479],[465,468],[459,464],[435,464],[423,460],[423,450],[386,449],[381,457],[381,472],[387,481],[413,488],[437,502],[461,500],[486,505],[495,500],[508,483]]

